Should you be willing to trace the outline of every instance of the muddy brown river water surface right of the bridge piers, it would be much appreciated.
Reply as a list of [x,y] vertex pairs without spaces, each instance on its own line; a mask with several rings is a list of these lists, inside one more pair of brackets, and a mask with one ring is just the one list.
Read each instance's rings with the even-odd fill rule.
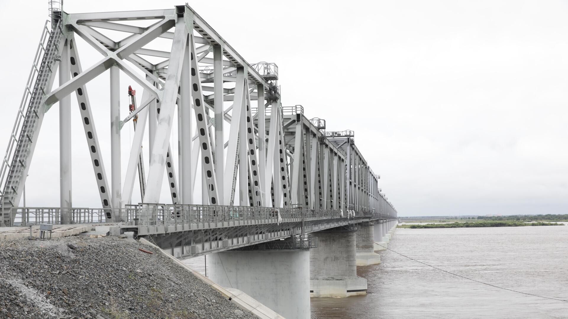
[[[389,249],[471,279],[568,300],[568,226],[396,229]],[[357,267],[367,295],[311,299],[312,318],[568,318],[568,303],[522,295],[386,251]]]

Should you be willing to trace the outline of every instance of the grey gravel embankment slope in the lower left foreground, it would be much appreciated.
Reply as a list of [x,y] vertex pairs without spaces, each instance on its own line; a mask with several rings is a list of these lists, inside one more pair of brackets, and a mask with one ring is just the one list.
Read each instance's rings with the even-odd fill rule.
[[0,241],[0,318],[254,316],[153,247],[73,236]]

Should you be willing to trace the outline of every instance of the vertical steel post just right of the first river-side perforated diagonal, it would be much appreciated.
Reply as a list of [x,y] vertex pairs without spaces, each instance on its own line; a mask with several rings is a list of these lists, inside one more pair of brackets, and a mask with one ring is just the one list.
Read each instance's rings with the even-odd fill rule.
[[[219,205],[225,205],[223,197],[223,177],[225,165],[225,142],[223,136],[223,48],[220,45],[213,46],[213,87],[215,101],[215,177],[217,184],[217,196]],[[236,101],[235,101],[236,102]]]

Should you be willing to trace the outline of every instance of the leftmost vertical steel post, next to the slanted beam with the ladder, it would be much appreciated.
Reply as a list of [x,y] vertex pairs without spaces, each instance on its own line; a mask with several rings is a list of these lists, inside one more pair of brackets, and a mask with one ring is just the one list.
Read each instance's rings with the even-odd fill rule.
[[[59,85],[69,81],[69,40],[65,41],[59,64]],[[61,224],[70,224],[71,220],[71,96],[59,101],[59,191]]]

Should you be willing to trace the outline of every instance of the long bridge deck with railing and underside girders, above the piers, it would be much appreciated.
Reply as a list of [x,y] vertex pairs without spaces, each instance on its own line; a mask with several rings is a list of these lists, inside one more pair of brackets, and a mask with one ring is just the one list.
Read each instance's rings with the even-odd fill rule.
[[[13,208],[19,224],[59,224],[65,208]],[[103,208],[72,208],[73,224],[107,223]],[[191,258],[302,233],[373,220],[395,219],[382,213],[218,205],[138,204],[114,210],[124,217],[112,232],[135,232],[178,258]],[[343,215],[343,216],[342,216]]]

